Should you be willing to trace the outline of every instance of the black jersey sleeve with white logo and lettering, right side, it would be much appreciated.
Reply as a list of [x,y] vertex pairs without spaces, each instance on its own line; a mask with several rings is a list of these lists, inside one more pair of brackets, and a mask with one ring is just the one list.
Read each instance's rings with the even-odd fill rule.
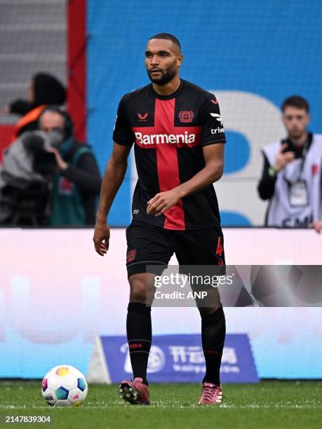
[[224,125],[215,95],[206,97],[201,111],[201,145],[226,143]]

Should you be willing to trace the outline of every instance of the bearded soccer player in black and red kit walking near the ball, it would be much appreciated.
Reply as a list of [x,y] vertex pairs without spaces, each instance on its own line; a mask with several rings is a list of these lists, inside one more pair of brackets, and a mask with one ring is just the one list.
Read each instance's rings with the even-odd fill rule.
[[[109,248],[107,215],[134,143],[138,181],[133,220],[126,229],[130,283],[126,331],[134,381],[119,385],[119,395],[134,404],[150,402],[147,361],[152,326],[147,294],[154,275],[146,272],[146,266],[166,267],[173,252],[180,265],[225,264],[213,189],[224,164],[222,118],[213,94],[180,79],[181,64],[181,47],[175,36],[162,33],[149,39],[145,66],[152,83],[124,95],[119,103],[114,149],[102,182],[93,237],[96,252],[104,256]],[[215,306],[200,307],[199,312],[206,360],[199,404],[220,404],[226,332],[220,299]]]

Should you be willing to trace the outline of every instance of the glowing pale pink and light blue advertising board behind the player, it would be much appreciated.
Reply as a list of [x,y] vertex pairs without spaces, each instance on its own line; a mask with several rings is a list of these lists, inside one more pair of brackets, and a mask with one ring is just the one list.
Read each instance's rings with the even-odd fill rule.
[[[86,371],[96,336],[125,334],[125,231],[112,230],[105,257],[92,237],[91,229],[0,230],[0,376],[38,377],[61,362]],[[321,264],[322,236],[226,229],[224,247],[227,264]],[[321,378],[321,308],[225,313],[227,332],[250,337],[260,377]],[[154,334],[199,330],[195,308],[153,309]]]

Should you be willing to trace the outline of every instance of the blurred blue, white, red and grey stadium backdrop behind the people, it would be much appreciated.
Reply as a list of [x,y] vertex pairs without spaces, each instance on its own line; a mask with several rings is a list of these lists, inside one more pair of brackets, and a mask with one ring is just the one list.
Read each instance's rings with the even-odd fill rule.
[[[310,0],[0,0],[0,106],[27,96],[29,81],[48,71],[67,86],[76,136],[88,142],[101,174],[112,150],[120,98],[148,82],[147,39],[167,31],[182,44],[181,76],[220,102],[229,144],[224,177],[215,185],[222,225],[264,224],[257,195],[261,148],[281,139],[280,107],[299,94],[311,106],[310,130],[322,132],[321,3]],[[0,116],[0,147],[16,118]],[[130,164],[112,226],[130,222],[136,172]]]

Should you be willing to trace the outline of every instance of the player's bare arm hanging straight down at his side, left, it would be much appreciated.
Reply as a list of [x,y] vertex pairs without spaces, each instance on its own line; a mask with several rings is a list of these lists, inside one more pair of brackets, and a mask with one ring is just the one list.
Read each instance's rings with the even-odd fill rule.
[[109,226],[107,217],[116,193],[119,191],[119,187],[126,174],[129,153],[129,146],[114,143],[112,156],[109,158],[103,176],[100,203],[98,205],[93,237],[95,251],[98,252],[100,256],[104,256],[109,248]]

